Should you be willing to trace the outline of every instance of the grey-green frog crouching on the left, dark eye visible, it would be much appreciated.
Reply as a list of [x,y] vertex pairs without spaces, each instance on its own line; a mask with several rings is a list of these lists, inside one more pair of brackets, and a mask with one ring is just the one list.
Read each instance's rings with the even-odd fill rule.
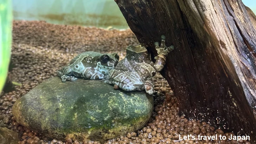
[[67,66],[57,71],[58,76],[65,81],[75,81],[78,78],[103,79],[109,70],[115,68],[119,61],[117,53],[83,52],[74,57]]

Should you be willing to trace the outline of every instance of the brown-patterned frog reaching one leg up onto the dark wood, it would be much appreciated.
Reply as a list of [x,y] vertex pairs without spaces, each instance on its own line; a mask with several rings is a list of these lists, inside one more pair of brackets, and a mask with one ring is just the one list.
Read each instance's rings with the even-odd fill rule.
[[109,70],[102,82],[114,84],[125,91],[143,91],[152,95],[154,91],[151,80],[156,72],[161,71],[166,63],[167,54],[174,50],[174,46],[165,45],[166,37],[161,35],[161,43],[155,42],[155,50],[158,55],[151,60],[151,54],[147,51],[146,44],[130,45],[126,48],[126,57],[119,61],[115,69]]

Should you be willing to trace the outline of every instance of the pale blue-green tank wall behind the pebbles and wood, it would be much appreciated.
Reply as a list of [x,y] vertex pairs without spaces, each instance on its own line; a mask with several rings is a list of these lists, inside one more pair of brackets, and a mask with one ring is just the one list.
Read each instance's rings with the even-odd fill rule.
[[[242,1],[256,13],[256,0]],[[128,28],[114,0],[13,0],[13,14],[16,20]]]

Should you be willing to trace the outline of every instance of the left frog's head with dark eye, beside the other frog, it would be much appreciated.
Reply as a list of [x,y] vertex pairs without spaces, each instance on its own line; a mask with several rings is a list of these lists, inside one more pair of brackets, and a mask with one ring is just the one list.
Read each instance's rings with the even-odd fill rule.
[[108,71],[114,69],[118,63],[119,56],[117,53],[102,54],[97,63],[98,71],[108,74]]

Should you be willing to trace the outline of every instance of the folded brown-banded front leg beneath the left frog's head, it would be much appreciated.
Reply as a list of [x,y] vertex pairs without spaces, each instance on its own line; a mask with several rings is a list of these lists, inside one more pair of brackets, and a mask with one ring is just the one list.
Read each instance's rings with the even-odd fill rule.
[[103,79],[104,74],[100,71],[95,70],[92,67],[87,67],[83,70],[83,76],[87,79]]

